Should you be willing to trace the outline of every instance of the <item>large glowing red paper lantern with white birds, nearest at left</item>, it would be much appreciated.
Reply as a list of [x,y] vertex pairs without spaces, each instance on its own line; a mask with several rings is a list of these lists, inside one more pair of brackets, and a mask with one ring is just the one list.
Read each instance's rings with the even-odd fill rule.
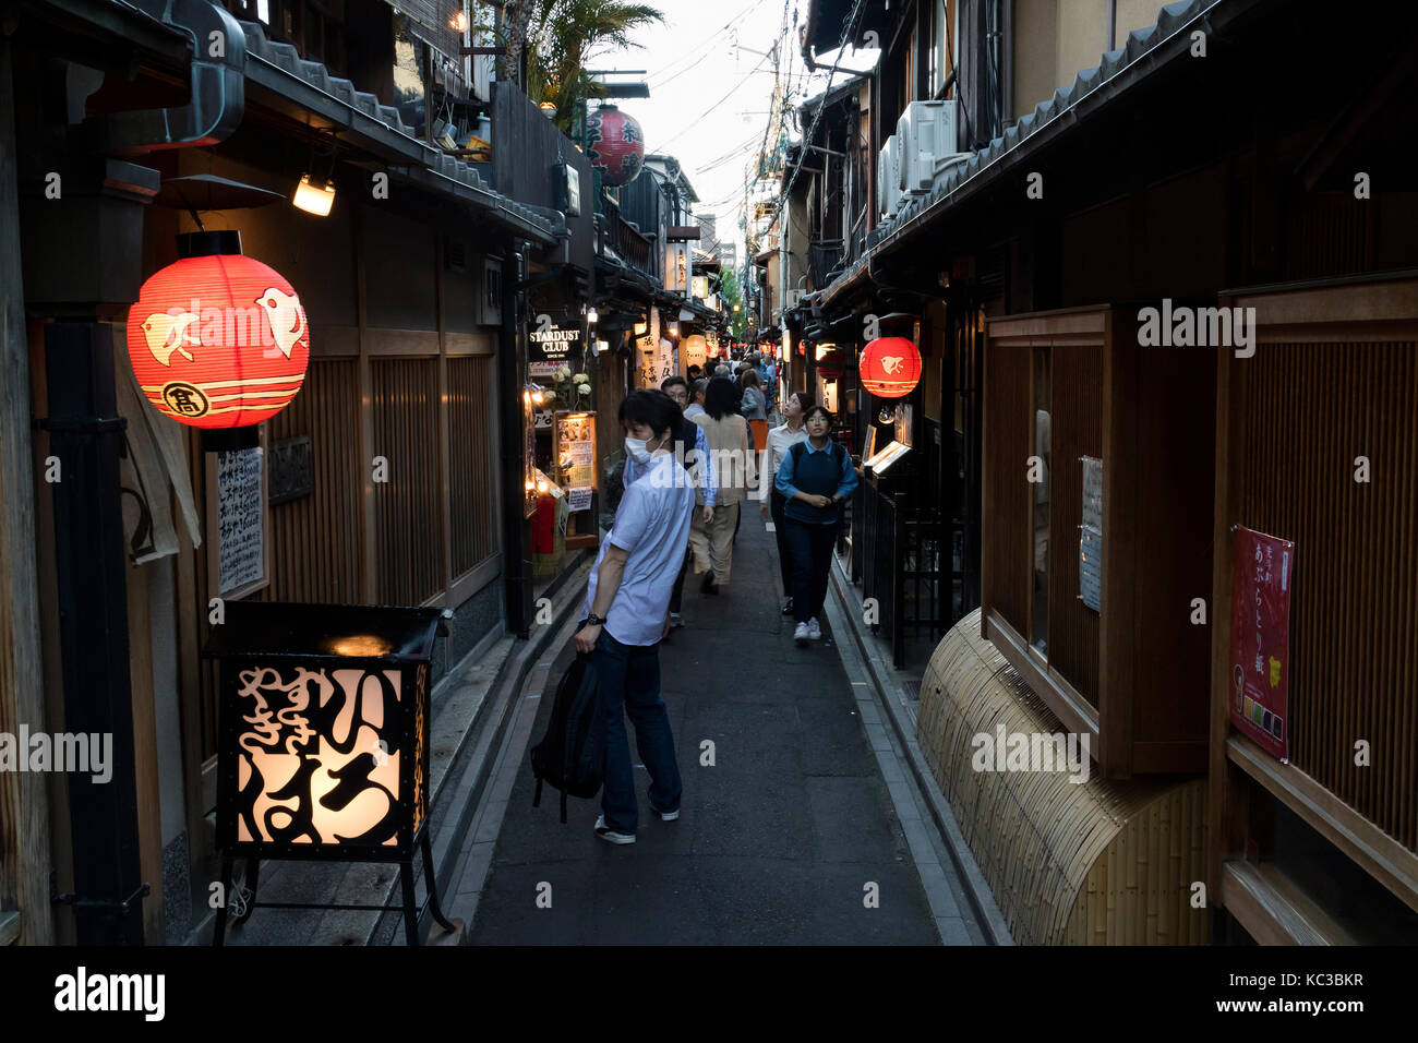
[[160,412],[194,427],[245,427],[305,380],[311,333],[291,284],[241,254],[187,257],[128,309],[128,358]]

